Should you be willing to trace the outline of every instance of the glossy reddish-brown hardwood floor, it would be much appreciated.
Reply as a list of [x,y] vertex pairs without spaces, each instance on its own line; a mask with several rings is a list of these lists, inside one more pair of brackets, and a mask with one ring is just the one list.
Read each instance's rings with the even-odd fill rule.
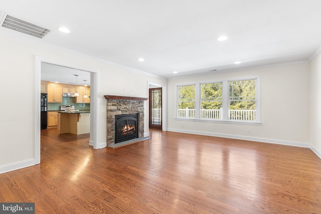
[[89,135],[41,131],[41,164],[0,174],[0,202],[36,213],[321,213],[308,148],[150,129],[95,150]]

